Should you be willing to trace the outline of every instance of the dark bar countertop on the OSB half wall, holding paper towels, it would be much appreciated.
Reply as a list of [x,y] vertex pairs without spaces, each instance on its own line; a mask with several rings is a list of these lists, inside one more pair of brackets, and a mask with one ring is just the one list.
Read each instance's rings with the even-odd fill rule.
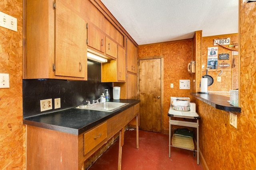
[[224,111],[232,111],[241,113],[241,107],[232,106],[227,101],[230,100],[227,96],[222,96],[218,94],[200,94],[200,93],[190,93],[194,98],[197,98],[216,109]]

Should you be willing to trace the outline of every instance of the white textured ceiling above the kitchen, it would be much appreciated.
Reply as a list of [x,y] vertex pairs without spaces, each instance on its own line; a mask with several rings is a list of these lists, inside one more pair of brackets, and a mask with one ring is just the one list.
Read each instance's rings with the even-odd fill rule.
[[101,0],[138,45],[238,33],[238,0]]

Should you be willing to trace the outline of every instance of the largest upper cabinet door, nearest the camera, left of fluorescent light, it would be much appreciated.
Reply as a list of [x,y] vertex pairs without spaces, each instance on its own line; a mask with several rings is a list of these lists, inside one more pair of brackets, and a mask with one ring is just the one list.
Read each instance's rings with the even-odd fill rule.
[[56,0],[55,31],[55,75],[87,77],[86,23],[62,0]]

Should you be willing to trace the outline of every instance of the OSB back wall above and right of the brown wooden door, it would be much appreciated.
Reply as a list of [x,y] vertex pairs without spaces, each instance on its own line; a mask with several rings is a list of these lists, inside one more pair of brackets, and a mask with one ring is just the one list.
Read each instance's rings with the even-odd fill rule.
[[[164,58],[164,130],[168,132],[169,117],[167,115],[170,107],[170,97],[190,97],[192,88],[180,90],[180,80],[192,81],[192,75],[188,73],[188,63],[192,60],[192,39],[184,41],[173,41],[152,45],[141,45],[138,47],[138,60],[152,59],[154,57]],[[174,88],[170,88],[170,84]],[[190,83],[190,86],[192,84]]]

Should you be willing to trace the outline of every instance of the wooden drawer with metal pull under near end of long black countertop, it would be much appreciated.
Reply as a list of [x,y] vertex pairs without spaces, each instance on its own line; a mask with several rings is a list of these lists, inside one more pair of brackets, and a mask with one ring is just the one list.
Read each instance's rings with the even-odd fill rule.
[[107,138],[107,122],[84,133],[84,155]]

